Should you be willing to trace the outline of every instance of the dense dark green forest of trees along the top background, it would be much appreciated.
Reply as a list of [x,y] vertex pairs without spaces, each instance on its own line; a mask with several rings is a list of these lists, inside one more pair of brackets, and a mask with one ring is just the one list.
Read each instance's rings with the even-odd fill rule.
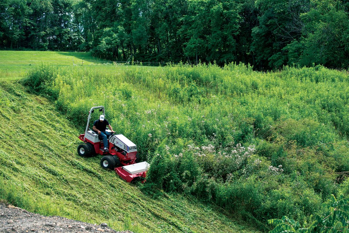
[[348,0],[1,0],[0,48],[348,68]]

